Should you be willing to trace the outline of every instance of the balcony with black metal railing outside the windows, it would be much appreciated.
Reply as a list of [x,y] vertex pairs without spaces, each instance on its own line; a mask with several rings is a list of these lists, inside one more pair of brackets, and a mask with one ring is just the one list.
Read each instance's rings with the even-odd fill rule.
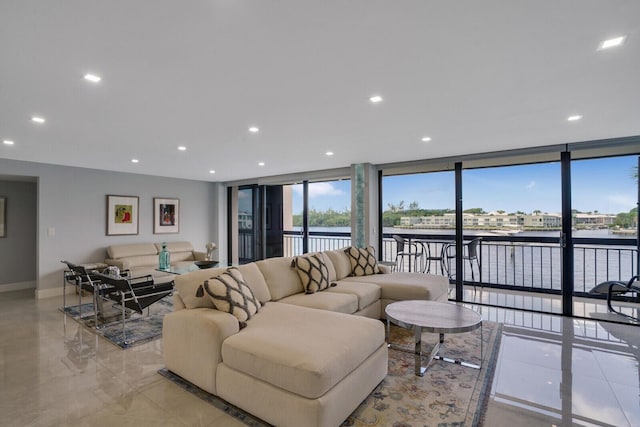
[[[440,253],[453,243],[455,236],[402,234],[410,242],[430,245],[431,254]],[[474,236],[465,236],[465,240]],[[532,311],[562,312],[562,250],[558,238],[519,235],[482,236],[480,243],[481,273],[476,275],[476,287],[471,280],[469,265],[464,271],[464,301],[491,306],[520,308]],[[309,252],[333,250],[351,245],[350,233],[310,232]],[[302,254],[302,236],[286,232],[284,255]],[[635,239],[574,238],[574,314],[580,317],[606,318],[620,321],[607,313],[603,296],[589,291],[598,283],[609,280],[627,281],[638,271]],[[393,262],[396,243],[391,234],[383,238],[380,260]],[[405,260],[407,263],[408,260]],[[409,266],[405,264],[405,270]],[[449,266],[455,271],[455,261]],[[441,273],[440,265],[432,264],[431,272]],[[446,268],[445,272],[446,274]],[[452,281],[453,288],[453,281]],[[453,293],[451,294],[453,295]],[[619,301],[619,307],[630,315],[638,315],[637,301]]]

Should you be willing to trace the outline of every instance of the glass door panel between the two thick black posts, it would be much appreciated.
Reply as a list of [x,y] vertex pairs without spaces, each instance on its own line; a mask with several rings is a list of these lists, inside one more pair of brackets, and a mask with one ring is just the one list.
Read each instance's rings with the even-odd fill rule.
[[559,162],[462,171],[465,301],[562,312],[560,183]]

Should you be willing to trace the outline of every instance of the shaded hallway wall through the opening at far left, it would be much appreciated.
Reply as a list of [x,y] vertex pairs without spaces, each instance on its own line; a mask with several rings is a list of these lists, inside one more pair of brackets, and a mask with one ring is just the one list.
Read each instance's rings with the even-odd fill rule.
[[0,238],[0,292],[33,288],[36,283],[35,182],[4,181],[0,196],[6,197],[6,237]]

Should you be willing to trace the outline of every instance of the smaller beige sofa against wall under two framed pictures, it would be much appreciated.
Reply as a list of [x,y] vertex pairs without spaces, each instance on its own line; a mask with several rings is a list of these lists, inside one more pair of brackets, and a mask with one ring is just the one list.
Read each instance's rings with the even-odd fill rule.
[[[204,252],[193,249],[190,242],[167,242],[170,252],[171,266],[191,264],[202,261]],[[130,270],[133,277],[152,275],[158,282],[173,280],[174,275],[157,271],[158,254],[162,250],[162,243],[130,243],[111,245],[107,247],[107,265],[114,265],[120,270]]]

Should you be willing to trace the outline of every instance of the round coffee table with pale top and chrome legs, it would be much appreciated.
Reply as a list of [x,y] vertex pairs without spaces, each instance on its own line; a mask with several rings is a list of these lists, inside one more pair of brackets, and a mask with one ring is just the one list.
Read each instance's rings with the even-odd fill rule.
[[[389,304],[385,309],[385,313],[387,314],[387,343],[389,348],[414,353],[415,373],[417,376],[424,376],[431,361],[434,359],[474,369],[481,368],[483,350],[482,317],[475,311],[447,302],[410,300]],[[389,342],[391,323],[414,332],[415,348],[413,352]],[[445,334],[470,332],[478,328],[480,328],[480,365],[438,354],[440,345],[444,343]],[[423,332],[440,334],[440,339],[428,356],[422,352]],[[427,363],[424,366],[422,365],[423,357],[427,357]]]

